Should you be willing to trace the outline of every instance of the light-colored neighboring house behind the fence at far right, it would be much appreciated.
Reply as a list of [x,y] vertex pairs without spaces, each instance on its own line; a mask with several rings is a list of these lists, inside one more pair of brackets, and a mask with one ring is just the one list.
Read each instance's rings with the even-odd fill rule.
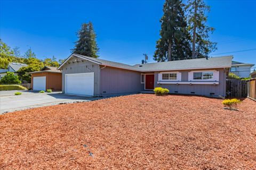
[[241,78],[247,78],[250,76],[252,66],[254,66],[254,64],[232,61],[230,73],[234,73]]

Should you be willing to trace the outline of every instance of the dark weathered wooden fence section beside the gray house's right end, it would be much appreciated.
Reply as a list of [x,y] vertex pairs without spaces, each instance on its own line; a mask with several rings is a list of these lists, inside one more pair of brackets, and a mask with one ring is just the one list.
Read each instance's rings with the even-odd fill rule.
[[246,91],[246,81],[245,80],[239,80],[239,79],[229,79],[227,80],[227,97],[246,97],[247,91]]

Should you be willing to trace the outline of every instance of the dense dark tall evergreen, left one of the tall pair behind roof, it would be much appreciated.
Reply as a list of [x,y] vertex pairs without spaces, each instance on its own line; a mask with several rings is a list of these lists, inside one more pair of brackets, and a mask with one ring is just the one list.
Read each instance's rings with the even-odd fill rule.
[[180,0],[166,0],[160,20],[161,38],[156,42],[154,60],[158,62],[182,60],[191,56],[189,34]]

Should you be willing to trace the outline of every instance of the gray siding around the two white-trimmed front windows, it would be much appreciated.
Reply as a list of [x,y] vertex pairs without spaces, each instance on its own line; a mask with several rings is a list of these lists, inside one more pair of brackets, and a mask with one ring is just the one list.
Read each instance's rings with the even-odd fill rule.
[[[191,92],[195,92],[193,95],[203,95],[210,96],[210,93],[214,93],[213,96],[218,97],[226,96],[226,71],[224,69],[215,69],[219,71],[219,84],[157,84],[158,81],[158,73],[155,72],[155,87],[167,88],[170,90],[172,94],[191,94]],[[181,72],[181,81],[188,81],[188,72],[189,71],[180,71]]]

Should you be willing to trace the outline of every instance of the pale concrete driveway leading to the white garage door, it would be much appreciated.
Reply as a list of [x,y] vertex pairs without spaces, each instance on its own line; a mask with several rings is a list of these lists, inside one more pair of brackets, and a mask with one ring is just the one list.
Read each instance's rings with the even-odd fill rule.
[[[15,96],[14,93],[17,91],[22,92],[22,95]],[[97,99],[101,98],[67,95],[62,94],[62,92],[45,92],[40,94],[38,91],[31,90],[0,91],[0,114],[28,108],[92,101]]]

